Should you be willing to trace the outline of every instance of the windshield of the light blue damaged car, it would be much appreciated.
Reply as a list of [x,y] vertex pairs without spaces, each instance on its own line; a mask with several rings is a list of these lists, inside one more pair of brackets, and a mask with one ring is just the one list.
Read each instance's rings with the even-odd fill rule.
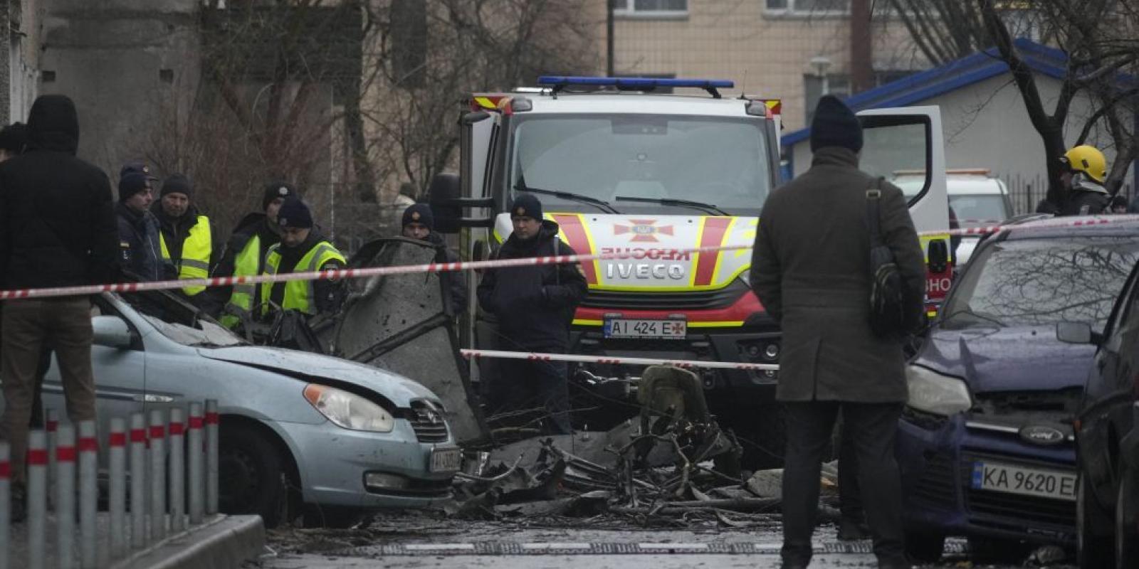
[[192,304],[165,290],[123,292],[120,296],[163,336],[179,344],[198,347],[247,344]]

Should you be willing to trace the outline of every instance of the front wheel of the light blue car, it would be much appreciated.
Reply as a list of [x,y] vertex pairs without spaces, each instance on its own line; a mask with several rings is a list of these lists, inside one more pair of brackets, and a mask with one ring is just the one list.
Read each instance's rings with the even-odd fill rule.
[[285,518],[287,500],[277,446],[247,427],[223,429],[218,448],[218,505],[223,513],[260,514],[267,528]]

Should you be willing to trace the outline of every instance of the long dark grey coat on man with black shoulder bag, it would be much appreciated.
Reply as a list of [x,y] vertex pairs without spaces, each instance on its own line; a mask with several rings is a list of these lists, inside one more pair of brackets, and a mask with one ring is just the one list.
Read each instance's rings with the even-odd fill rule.
[[[844,148],[820,148],[803,175],[763,205],[751,282],[782,328],[780,401],[904,402],[902,344],[868,323],[870,238],[866,190],[875,179]],[[901,190],[882,188],[883,239],[894,253],[913,320],[925,261]]]

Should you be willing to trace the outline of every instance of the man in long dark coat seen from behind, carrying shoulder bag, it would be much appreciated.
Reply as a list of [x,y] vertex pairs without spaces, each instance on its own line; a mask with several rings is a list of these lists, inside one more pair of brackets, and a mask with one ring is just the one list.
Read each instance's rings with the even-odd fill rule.
[[[843,414],[878,567],[906,564],[894,437],[907,399],[901,339],[871,332],[867,190],[858,170],[862,129],[837,98],[823,97],[811,124],[811,168],[768,198],[752,259],[752,287],[784,335],[777,397],[787,412],[784,470],[785,568],[806,567],[819,497],[821,454]],[[921,321],[925,265],[902,191],[882,183],[883,240]],[[827,207],[819,207],[826,204]]]

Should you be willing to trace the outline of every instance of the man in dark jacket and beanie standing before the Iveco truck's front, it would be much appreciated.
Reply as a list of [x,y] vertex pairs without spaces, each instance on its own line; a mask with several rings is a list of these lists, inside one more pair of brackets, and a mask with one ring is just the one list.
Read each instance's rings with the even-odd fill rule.
[[[574,255],[558,242],[558,224],[542,220],[542,204],[533,195],[518,196],[510,206],[514,232],[498,258]],[[498,316],[503,349],[565,353],[570,325],[585,297],[585,277],[576,264],[492,269],[478,283],[478,304]],[[503,360],[492,398],[503,410],[543,406],[548,432],[570,432],[570,387],[565,362]]]

